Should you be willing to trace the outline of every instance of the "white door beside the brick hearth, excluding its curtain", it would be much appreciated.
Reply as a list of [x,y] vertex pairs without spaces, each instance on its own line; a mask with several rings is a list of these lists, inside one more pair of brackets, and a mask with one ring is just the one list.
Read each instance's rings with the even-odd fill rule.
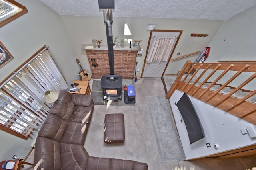
[[[150,45],[149,48],[147,49],[148,51],[150,51],[151,47],[152,47],[152,42],[153,42],[153,37],[179,37],[180,32],[168,32],[168,31],[158,31],[158,30],[153,30],[151,33],[151,37],[150,37]],[[174,42],[174,45],[172,47],[172,50],[174,49],[174,46],[176,44],[177,39]],[[170,52],[170,54],[172,53],[172,50]],[[147,54],[148,54],[147,51]],[[169,57],[170,57],[169,54]],[[147,58],[147,56],[146,56]],[[169,59],[168,59],[169,61]],[[167,66],[166,61],[161,61],[160,63],[158,61],[156,62],[150,62],[150,61],[146,61],[144,63],[144,70],[143,70],[143,78],[161,78],[162,74],[164,73],[164,70]]]

